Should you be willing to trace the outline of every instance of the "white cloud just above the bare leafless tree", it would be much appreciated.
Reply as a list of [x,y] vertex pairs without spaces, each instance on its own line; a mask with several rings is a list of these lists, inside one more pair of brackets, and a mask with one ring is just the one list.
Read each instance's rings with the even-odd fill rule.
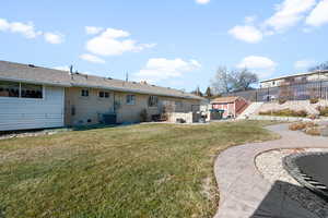
[[258,74],[260,78],[267,77],[274,73],[277,63],[269,58],[260,56],[248,56],[244,58],[237,68],[247,68]]

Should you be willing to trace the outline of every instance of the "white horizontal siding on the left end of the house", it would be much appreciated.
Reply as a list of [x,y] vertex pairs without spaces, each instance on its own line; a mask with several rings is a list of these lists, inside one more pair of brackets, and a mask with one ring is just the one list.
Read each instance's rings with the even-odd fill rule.
[[63,126],[62,87],[44,88],[43,99],[0,97],[0,131]]

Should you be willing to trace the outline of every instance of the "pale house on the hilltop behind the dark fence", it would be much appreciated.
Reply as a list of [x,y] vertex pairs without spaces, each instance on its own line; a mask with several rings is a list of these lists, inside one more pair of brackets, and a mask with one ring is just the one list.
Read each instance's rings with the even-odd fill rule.
[[277,87],[281,85],[292,85],[297,83],[328,81],[328,71],[315,71],[294,75],[281,76],[260,82],[261,88]]

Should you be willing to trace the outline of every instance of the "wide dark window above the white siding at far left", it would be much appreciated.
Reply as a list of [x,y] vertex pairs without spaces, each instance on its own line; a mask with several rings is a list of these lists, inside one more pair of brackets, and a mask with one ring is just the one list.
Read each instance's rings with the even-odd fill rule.
[[43,98],[43,85],[0,81],[0,97]]

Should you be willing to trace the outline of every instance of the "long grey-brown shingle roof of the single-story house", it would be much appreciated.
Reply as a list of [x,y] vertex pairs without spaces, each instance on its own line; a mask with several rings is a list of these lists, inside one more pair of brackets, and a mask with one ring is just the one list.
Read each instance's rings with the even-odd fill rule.
[[126,82],[82,73],[69,73],[55,69],[31,64],[0,61],[0,80],[55,85],[63,87],[90,87],[117,92],[159,95],[167,97],[199,99],[203,98],[174,88],[161,87],[145,83]]

